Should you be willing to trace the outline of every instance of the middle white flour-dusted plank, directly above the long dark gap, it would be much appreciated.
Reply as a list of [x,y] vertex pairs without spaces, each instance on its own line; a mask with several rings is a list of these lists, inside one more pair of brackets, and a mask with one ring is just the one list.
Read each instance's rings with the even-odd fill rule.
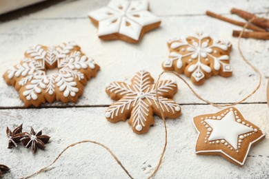
[[[123,41],[101,41],[97,37],[97,28],[88,19],[34,20],[23,17],[16,21],[2,23],[0,28],[0,74],[19,62],[29,45],[38,43],[57,45],[62,41],[76,41],[81,45],[83,52],[94,58],[101,66],[101,71],[84,88],[84,94],[77,103],[80,106],[110,105],[112,101],[104,92],[106,83],[130,79],[138,70],[148,70],[156,79],[162,71],[162,61],[168,56],[166,41],[171,37],[197,31],[208,32],[219,39],[231,41],[233,50],[230,63],[234,68],[233,76],[230,78],[215,76],[202,86],[191,85],[198,94],[216,103],[232,103],[250,94],[258,83],[255,72],[239,56],[238,39],[232,37],[232,30],[240,30],[240,28],[206,16],[163,17],[161,28],[146,34],[137,45]],[[261,88],[246,102],[266,103],[269,42],[242,39],[241,45],[247,59],[263,74]],[[167,76],[175,78],[175,76]],[[186,80],[190,82],[189,78]],[[179,85],[179,92],[175,96],[177,103],[203,103],[183,82],[177,81]],[[0,94],[0,107],[23,106],[15,89],[8,87],[3,78],[0,78]],[[55,103],[53,106],[61,106],[61,103]]]

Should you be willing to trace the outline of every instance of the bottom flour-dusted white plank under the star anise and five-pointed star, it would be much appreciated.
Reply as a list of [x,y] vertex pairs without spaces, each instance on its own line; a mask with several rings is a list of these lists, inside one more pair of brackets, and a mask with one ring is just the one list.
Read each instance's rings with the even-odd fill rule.
[[[269,132],[268,106],[237,105],[250,122]],[[137,135],[127,122],[110,123],[104,117],[106,107],[70,109],[1,109],[0,163],[12,170],[6,178],[20,178],[48,165],[57,154],[71,143],[79,140],[97,140],[107,145],[135,178],[146,178],[152,173],[164,143],[164,129],[160,118],[148,134]],[[269,140],[252,147],[244,167],[237,167],[219,156],[195,155],[197,131],[192,117],[217,112],[210,105],[183,105],[182,116],[167,120],[168,147],[156,178],[266,178],[269,169]],[[46,151],[19,147],[7,149],[6,127],[23,123],[23,129],[43,129],[51,136]],[[76,169],[79,168],[79,171]],[[214,171],[212,171],[214,169]],[[127,178],[121,167],[101,147],[82,144],[72,147],[52,166],[50,171],[37,178]]]

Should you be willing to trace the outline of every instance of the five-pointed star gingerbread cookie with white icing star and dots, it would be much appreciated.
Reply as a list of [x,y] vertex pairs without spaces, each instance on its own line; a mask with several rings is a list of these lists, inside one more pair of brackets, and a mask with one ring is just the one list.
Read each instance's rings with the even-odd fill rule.
[[196,116],[193,122],[199,133],[196,154],[223,156],[239,166],[245,163],[250,147],[266,136],[235,107]]

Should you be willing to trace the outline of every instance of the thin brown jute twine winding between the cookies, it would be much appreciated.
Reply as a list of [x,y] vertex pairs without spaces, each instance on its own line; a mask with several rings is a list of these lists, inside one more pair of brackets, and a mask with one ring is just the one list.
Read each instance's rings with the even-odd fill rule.
[[[248,21],[248,23],[252,22],[255,18],[251,19],[250,21]],[[197,94],[197,92],[195,92],[195,89],[193,89],[192,87],[190,87],[190,85],[188,84],[188,82],[186,80],[184,80],[184,78],[181,77],[180,74],[177,74],[176,72],[170,72],[170,71],[164,71],[164,72],[161,72],[161,74],[159,74],[159,78],[157,80],[157,85],[156,85],[156,96],[157,96],[157,105],[159,107],[159,109],[161,109],[160,107],[160,104],[159,104],[159,95],[158,95],[158,84],[159,84],[159,79],[161,78],[161,76],[165,73],[170,73],[170,74],[175,74],[177,77],[179,77],[181,79],[181,81],[183,81],[184,83],[186,83],[186,85],[190,88],[190,90],[192,91],[193,94],[195,94],[195,96],[197,96],[197,98],[199,98],[201,101],[205,102],[205,103],[208,103],[210,105],[213,105],[215,107],[227,107],[227,106],[232,106],[232,105],[237,105],[239,103],[242,103],[243,101],[246,101],[248,98],[250,98],[250,96],[252,96],[252,94],[255,94],[255,92],[259,89],[259,87],[261,86],[261,72],[259,72],[259,70],[257,69],[257,67],[253,66],[247,59],[245,56],[243,56],[243,53],[241,51],[241,48],[240,48],[240,43],[241,43],[241,36],[243,34],[243,32],[246,30],[246,27],[248,26],[248,23],[246,25],[243,26],[243,30],[241,31],[240,35],[239,35],[239,39],[238,39],[238,44],[237,44],[237,47],[238,47],[238,50],[240,52],[240,55],[243,59],[243,61],[245,61],[248,65],[250,65],[250,67],[252,67],[252,69],[257,72],[257,74],[259,75],[259,83],[257,85],[257,87],[250,93],[248,94],[248,96],[246,96],[245,98],[241,99],[240,101],[237,101],[235,103],[232,103],[232,104],[217,104],[217,103],[212,103],[211,101],[208,101],[204,98],[202,98],[199,94]],[[152,178],[153,176],[155,176],[155,174],[157,173],[157,171],[159,170],[159,167],[161,166],[161,161],[163,160],[163,156],[166,152],[166,146],[167,146],[167,128],[166,128],[166,119],[163,115],[163,112],[160,110],[161,112],[161,119],[163,120],[163,126],[164,126],[164,129],[165,129],[165,142],[164,142],[164,145],[163,145],[163,150],[161,152],[161,157],[159,158],[159,162],[157,164],[157,166],[155,167],[154,171],[152,172],[152,174],[150,176],[148,176],[148,178]],[[106,147],[106,145],[103,145],[97,141],[94,141],[94,140],[82,140],[82,141],[79,141],[77,143],[73,143],[71,145],[68,145],[68,147],[66,147],[65,149],[63,149],[63,151],[61,151],[61,153],[57,156],[57,158],[55,158],[55,160],[50,163],[50,165],[46,166],[46,167],[43,167],[42,169],[40,169],[39,171],[36,171],[32,174],[30,174],[29,176],[26,176],[26,177],[23,177],[21,179],[26,179],[26,178],[31,178],[32,176],[36,176],[38,175],[39,173],[42,173],[46,170],[48,170],[49,167],[51,167],[55,162],[57,162],[57,160],[61,157],[61,155],[69,148],[71,147],[74,147],[76,145],[79,145],[81,143],[93,143],[95,145],[99,145],[101,147],[103,147],[103,149],[106,149],[110,154],[111,156],[114,158],[114,160],[117,161],[117,163],[121,166],[121,168],[123,169],[123,171],[126,172],[126,174],[132,178],[132,176],[130,175],[130,173],[128,172],[128,170],[126,169],[126,167],[124,167],[121,162],[119,161],[119,159],[117,158],[117,156],[111,151],[111,149],[109,147]]]

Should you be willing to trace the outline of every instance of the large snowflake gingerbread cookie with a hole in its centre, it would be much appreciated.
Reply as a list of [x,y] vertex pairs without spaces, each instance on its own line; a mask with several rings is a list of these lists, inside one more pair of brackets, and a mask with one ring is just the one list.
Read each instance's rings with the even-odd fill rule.
[[[55,67],[58,73],[46,74]],[[37,107],[55,100],[77,102],[87,80],[96,76],[99,68],[72,42],[51,47],[33,45],[26,51],[24,59],[10,67],[3,78],[19,91],[26,107]]]

